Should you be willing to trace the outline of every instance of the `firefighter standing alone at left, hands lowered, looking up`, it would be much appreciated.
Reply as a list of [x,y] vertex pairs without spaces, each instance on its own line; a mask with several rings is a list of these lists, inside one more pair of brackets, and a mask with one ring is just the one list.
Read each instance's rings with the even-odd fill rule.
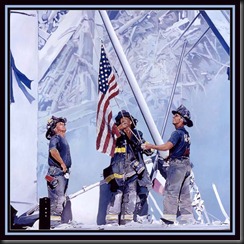
[[[70,147],[66,140],[66,118],[52,116],[47,123],[46,138],[49,142],[47,181],[48,197],[50,198],[51,228],[63,223],[62,216],[69,202],[66,191],[72,165]],[[69,221],[69,220],[65,220]]]

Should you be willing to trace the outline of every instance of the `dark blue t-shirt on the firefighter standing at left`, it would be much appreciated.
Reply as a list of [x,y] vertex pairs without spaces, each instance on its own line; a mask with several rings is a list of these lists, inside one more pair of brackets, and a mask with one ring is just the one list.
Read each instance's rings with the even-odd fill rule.
[[[70,148],[65,137],[60,135],[54,135],[50,139],[49,143],[49,151],[53,148],[56,148],[59,151],[61,158],[63,159],[67,168],[71,167],[71,156],[70,156]],[[50,166],[61,167],[60,163],[58,163],[49,153],[48,164]]]

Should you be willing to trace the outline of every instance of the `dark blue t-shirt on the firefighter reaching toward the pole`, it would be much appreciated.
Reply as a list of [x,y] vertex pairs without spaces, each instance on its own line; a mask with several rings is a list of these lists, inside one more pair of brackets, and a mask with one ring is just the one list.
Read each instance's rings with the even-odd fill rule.
[[174,145],[169,151],[170,158],[175,159],[190,155],[190,135],[185,127],[178,128],[172,132],[168,141],[172,142]]

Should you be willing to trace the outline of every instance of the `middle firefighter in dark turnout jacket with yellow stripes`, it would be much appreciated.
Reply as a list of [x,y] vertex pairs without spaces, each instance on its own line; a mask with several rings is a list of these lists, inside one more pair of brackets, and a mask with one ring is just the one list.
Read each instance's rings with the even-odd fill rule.
[[110,166],[104,170],[112,191],[106,224],[124,225],[134,221],[134,214],[148,214],[147,195],[151,181],[143,154],[149,156],[153,151],[141,148],[145,140],[142,132],[135,129],[137,119],[129,112],[120,111],[115,121],[116,148]]

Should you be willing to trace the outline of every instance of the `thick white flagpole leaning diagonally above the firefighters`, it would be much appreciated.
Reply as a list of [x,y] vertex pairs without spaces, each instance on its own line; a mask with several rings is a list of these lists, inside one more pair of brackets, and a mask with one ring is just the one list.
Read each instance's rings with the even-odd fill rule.
[[[151,115],[151,112],[147,106],[147,103],[141,93],[141,89],[136,81],[136,78],[132,72],[132,69],[129,65],[129,62],[124,54],[124,51],[121,47],[121,44],[119,42],[119,39],[113,29],[113,26],[110,22],[110,19],[107,15],[107,12],[106,10],[98,10],[100,15],[101,15],[101,18],[103,20],[103,23],[105,25],[105,28],[108,32],[108,35],[110,37],[110,40],[113,44],[113,47],[115,49],[115,52],[119,58],[119,61],[120,61],[120,64],[125,72],[125,75],[127,77],[127,80],[129,82],[129,85],[132,89],[132,92],[135,96],[135,99],[137,101],[137,104],[141,110],[141,113],[143,115],[143,118],[146,122],[146,125],[149,129],[149,132],[153,138],[153,141],[156,145],[160,145],[160,144],[163,144],[163,139],[161,137],[161,135],[159,134],[159,131],[157,129],[157,126],[152,118],[152,115]],[[159,154],[160,156],[162,156],[163,158],[166,158],[168,156],[168,151],[159,151]]]

